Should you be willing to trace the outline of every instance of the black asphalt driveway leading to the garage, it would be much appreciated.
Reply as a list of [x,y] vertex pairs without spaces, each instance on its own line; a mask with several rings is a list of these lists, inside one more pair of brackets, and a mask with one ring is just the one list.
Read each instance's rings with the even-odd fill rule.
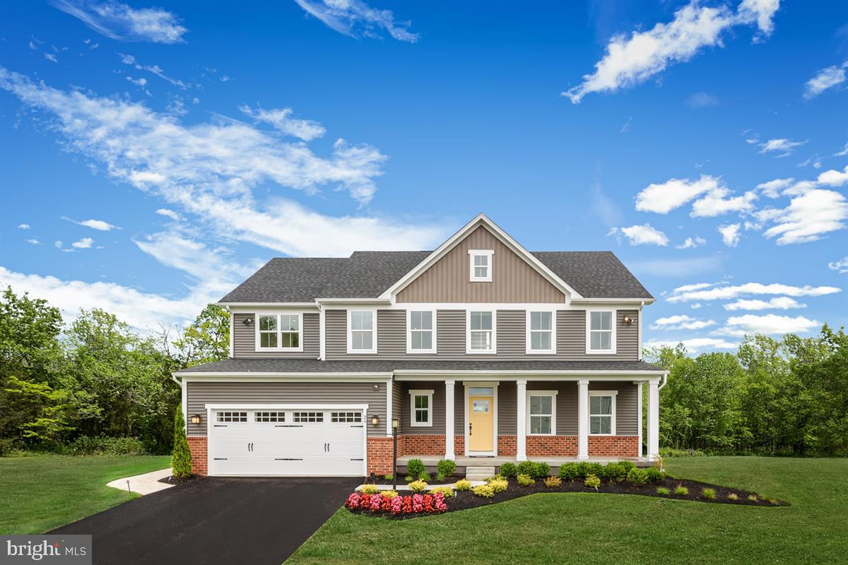
[[51,534],[91,534],[94,563],[279,565],[338,510],[357,479],[207,477]]

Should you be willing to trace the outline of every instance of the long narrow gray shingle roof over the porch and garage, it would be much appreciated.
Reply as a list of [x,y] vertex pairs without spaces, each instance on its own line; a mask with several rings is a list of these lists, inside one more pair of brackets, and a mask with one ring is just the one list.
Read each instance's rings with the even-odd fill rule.
[[423,369],[433,371],[662,371],[644,361],[379,361],[318,359],[226,359],[184,368],[180,374],[192,373],[391,373],[395,370]]

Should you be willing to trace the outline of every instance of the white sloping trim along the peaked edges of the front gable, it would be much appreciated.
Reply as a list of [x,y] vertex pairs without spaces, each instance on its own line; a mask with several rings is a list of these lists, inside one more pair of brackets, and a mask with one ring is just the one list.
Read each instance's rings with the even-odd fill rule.
[[424,273],[424,271],[429,269],[433,263],[436,263],[439,259],[443,258],[444,255],[446,255],[462,240],[462,238],[470,234],[471,230],[475,230],[481,225],[485,226],[505,246],[509,247],[512,252],[515,252],[518,257],[524,260],[525,263],[529,264],[533,267],[533,269],[536,269],[539,274],[544,276],[545,279],[560,289],[569,298],[583,298],[579,292],[575,291],[570,285],[568,285],[568,283],[566,283],[565,280],[562,280],[559,276],[557,276],[531,252],[528,252],[527,249],[522,247],[520,243],[512,239],[504,230],[501,230],[498,225],[489,219],[484,213],[477,214],[477,217],[472,219],[454,235],[451,235],[448,241],[445,241],[442,245],[438,246],[434,252],[427,255],[427,257],[410,270],[409,273],[404,274],[400,280],[389,286],[388,289],[380,295],[380,298],[393,299],[399,291],[402,291],[406,286],[410,285],[413,280],[416,280],[422,273]]

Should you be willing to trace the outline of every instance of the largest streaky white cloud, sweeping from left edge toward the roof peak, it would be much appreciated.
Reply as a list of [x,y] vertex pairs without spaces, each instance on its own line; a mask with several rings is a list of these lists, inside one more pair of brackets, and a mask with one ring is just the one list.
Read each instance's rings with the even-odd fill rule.
[[[313,194],[329,187],[360,204],[371,201],[386,156],[370,145],[338,139],[321,157],[302,141],[284,142],[234,119],[183,125],[139,103],[60,91],[2,67],[0,88],[53,114],[53,129],[70,151],[102,165],[114,180],[192,213],[222,238],[313,257],[426,249],[444,239],[440,224],[326,216],[280,196],[282,188]],[[259,196],[271,192],[262,202],[254,195],[259,186]]]

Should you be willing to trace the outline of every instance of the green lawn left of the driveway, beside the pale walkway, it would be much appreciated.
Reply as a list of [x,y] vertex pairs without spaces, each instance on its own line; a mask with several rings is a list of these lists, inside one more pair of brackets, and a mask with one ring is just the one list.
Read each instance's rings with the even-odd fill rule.
[[41,534],[138,495],[110,480],[170,466],[170,456],[0,457],[0,534]]

